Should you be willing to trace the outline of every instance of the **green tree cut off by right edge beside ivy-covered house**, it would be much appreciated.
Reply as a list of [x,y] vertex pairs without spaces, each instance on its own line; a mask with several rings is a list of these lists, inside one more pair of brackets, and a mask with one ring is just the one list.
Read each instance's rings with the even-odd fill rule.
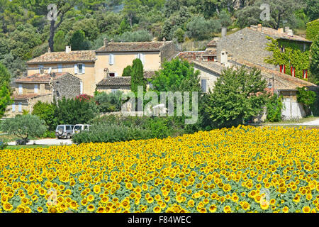
[[309,80],[319,85],[319,34],[310,47],[310,75]]

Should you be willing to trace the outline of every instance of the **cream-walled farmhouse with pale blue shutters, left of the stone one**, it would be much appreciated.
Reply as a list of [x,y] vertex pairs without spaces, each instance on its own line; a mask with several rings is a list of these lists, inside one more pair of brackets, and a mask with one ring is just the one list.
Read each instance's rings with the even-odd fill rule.
[[152,77],[162,62],[176,56],[178,49],[172,41],[114,43],[104,40],[98,50],[46,52],[26,62],[27,76],[13,84],[13,104],[4,117],[13,117],[23,110],[32,112],[37,101],[51,102],[75,97],[79,94],[94,95],[116,90],[129,91],[130,77],[122,77],[125,67],[135,58],[142,61],[145,77]]

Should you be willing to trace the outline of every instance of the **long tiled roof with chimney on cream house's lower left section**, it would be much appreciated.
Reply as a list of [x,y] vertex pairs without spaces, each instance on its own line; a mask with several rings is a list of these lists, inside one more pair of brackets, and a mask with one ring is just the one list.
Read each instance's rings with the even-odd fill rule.
[[46,52],[44,55],[35,57],[27,63],[45,62],[94,62],[96,60],[94,50],[78,50],[67,52]]

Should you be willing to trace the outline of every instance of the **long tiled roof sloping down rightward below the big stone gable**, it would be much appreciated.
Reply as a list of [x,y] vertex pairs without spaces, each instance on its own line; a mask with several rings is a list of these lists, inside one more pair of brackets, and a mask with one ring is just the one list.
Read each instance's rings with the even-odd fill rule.
[[262,76],[264,76],[267,81],[274,77],[274,89],[277,90],[295,90],[297,87],[309,87],[313,89],[319,89],[319,87],[313,83],[306,80],[299,79],[297,77],[291,77],[289,74],[285,74],[276,70],[270,70],[267,67],[262,67],[256,65],[252,62],[247,62],[246,60],[236,60],[230,62],[237,62],[239,65],[246,65],[247,67],[256,67],[257,70],[262,71]]

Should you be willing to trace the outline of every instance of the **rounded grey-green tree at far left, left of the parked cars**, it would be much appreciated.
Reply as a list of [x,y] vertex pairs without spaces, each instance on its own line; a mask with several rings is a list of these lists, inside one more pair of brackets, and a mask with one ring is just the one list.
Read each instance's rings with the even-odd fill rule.
[[40,137],[47,130],[45,121],[30,114],[6,118],[1,122],[0,128],[1,131],[9,133],[9,135],[16,135],[23,139],[24,143],[28,142],[30,136]]

